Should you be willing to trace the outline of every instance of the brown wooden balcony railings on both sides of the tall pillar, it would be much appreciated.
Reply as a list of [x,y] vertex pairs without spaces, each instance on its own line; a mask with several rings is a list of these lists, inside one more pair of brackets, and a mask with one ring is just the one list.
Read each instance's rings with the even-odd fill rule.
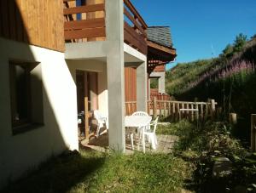
[[[106,40],[105,1],[87,1],[76,5],[75,0],[63,0],[64,37],[67,43]],[[99,3],[100,2],[100,3]],[[124,0],[124,41],[147,54],[147,25],[130,0]]]

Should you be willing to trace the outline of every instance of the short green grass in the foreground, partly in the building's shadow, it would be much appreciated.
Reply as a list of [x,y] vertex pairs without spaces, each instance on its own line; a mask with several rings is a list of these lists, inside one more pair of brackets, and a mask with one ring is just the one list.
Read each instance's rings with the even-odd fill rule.
[[191,173],[172,155],[82,150],[52,158],[3,192],[180,192]]

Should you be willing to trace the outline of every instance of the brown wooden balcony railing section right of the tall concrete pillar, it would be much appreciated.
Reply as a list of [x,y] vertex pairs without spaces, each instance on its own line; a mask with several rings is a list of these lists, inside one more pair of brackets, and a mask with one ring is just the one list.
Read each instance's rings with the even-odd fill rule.
[[131,45],[133,48],[137,48],[141,53],[147,54],[146,30],[148,26],[130,0],[124,0],[124,14],[125,43]]

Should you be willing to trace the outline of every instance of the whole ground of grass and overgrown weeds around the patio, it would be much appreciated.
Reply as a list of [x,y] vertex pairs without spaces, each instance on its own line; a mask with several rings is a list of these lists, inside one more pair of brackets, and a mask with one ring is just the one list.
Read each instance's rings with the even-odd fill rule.
[[[225,122],[182,120],[159,125],[177,135],[171,154],[80,150],[52,157],[3,192],[234,192],[256,191],[256,154],[247,152]],[[228,157],[232,174],[212,178],[216,157]]]

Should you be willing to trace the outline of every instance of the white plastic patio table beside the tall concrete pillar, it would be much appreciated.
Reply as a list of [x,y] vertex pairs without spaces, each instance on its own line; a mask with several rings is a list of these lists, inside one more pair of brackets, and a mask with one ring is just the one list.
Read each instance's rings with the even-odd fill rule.
[[142,129],[143,135],[143,152],[145,153],[145,136],[144,136],[144,128],[147,128],[152,120],[151,116],[125,116],[125,127],[131,128],[140,128]]

